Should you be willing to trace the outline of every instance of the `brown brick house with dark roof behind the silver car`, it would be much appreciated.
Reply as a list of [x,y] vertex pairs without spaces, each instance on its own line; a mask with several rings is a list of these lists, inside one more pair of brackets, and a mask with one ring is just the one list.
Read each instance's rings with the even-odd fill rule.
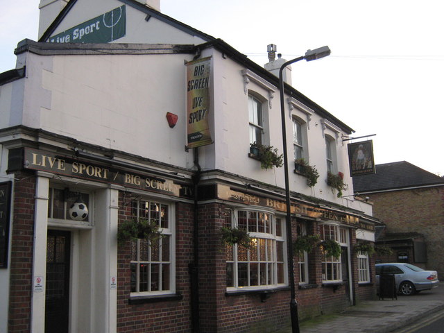
[[353,178],[355,191],[373,202],[385,228],[376,244],[393,249],[381,262],[408,262],[444,276],[444,179],[409,162],[376,165]]

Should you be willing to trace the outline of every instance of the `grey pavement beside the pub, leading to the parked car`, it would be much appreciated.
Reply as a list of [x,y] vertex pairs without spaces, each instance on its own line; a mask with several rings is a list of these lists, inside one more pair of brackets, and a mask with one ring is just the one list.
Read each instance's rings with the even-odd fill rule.
[[[436,291],[438,291],[436,293]],[[345,309],[341,314],[320,316],[300,323],[300,333],[386,333],[416,323],[444,311],[444,282],[418,296],[398,296],[392,300],[370,300]],[[432,295],[432,296],[430,296]]]

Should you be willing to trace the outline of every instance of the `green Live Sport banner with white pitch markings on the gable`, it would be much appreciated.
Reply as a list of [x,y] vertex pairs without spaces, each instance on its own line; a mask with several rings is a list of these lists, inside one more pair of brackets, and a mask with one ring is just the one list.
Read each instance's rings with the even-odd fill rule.
[[51,43],[109,43],[126,34],[126,7],[121,6],[49,37]]

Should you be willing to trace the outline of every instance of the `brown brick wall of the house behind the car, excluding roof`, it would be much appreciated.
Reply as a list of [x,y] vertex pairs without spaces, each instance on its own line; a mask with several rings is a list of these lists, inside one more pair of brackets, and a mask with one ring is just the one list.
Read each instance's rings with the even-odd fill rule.
[[425,236],[425,266],[443,277],[444,187],[371,194],[370,200],[374,203],[373,214],[386,223],[387,232],[418,232]]

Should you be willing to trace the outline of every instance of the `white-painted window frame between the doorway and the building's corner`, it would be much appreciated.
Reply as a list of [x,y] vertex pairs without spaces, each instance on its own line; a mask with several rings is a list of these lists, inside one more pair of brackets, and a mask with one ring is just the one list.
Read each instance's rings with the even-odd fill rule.
[[[135,214],[135,218],[139,219],[139,218],[146,218],[146,216],[140,216],[140,203],[144,202],[144,203],[148,203],[148,216],[150,216],[151,219],[151,204],[158,204],[160,207],[160,210],[158,211],[159,213],[159,223],[160,223],[160,228],[159,230],[162,231],[162,234],[166,235],[166,237],[168,237],[169,241],[169,259],[168,260],[164,260],[162,258],[163,253],[162,253],[162,245],[164,244],[164,239],[166,239],[166,237],[161,237],[159,239],[159,248],[157,249],[157,256],[158,259],[154,260],[152,259],[152,257],[148,257],[148,259],[143,260],[141,259],[141,254],[140,254],[140,247],[141,244],[143,244],[142,242],[144,240],[142,239],[137,239],[137,240],[132,240],[131,241],[131,258],[130,258],[130,262],[129,262],[129,266],[130,266],[130,280],[133,280],[133,271],[132,271],[132,266],[135,264],[136,267],[136,271],[135,271],[135,275],[136,275],[136,279],[135,279],[135,291],[133,291],[133,286],[131,285],[132,282],[130,282],[130,297],[137,297],[137,296],[159,296],[159,295],[170,295],[170,294],[174,294],[176,293],[176,218],[174,216],[174,205],[173,203],[168,203],[165,202],[163,200],[157,200],[157,199],[153,199],[153,198],[139,198],[137,200],[133,200],[133,202],[131,203],[132,205],[134,203],[138,203],[138,209],[136,211]],[[161,212],[162,212],[162,207],[167,207],[168,211],[167,211],[167,228],[162,227],[162,217],[161,217]],[[134,214],[135,212],[135,207],[131,207],[131,210]],[[148,250],[148,256],[152,254],[153,249],[151,248],[151,244],[146,241],[146,248]],[[135,246],[135,253],[136,253],[136,258],[133,259],[133,246]],[[146,281],[148,290],[147,291],[140,291],[140,265],[141,264],[148,264],[148,278]],[[158,266],[158,270],[157,270],[157,275],[159,276],[158,281],[159,281],[159,290],[150,290],[151,286],[152,286],[152,271],[151,268],[153,267],[153,265]],[[162,266],[164,265],[169,265],[169,279],[168,279],[168,283],[169,283],[169,289],[165,289],[162,290]]]

